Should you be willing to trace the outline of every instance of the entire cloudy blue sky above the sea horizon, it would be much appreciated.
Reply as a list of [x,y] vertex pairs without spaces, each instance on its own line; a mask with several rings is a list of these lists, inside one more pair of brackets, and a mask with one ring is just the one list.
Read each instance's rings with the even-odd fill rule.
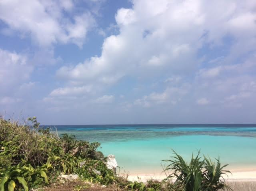
[[255,0],[0,0],[0,115],[256,123]]

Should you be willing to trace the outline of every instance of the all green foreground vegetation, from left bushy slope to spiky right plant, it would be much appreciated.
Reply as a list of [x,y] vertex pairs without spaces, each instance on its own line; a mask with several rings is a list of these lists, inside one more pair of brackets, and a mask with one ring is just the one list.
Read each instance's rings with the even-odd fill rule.
[[[107,185],[113,190],[134,191],[217,191],[230,189],[224,175],[230,173],[220,160],[192,155],[190,163],[177,153],[165,160],[163,181],[128,181],[108,169],[106,157],[97,149],[100,143],[77,140],[74,135],[58,137],[50,128],[40,127],[36,117],[23,125],[0,118],[0,191],[51,187],[60,184],[62,175],[76,175],[74,190],[86,190],[90,184]],[[176,181],[173,183],[173,178]],[[76,181],[74,181],[76,182]],[[87,184],[90,183],[90,184]],[[72,185],[72,184],[71,184]],[[101,190],[101,187],[100,187]]]

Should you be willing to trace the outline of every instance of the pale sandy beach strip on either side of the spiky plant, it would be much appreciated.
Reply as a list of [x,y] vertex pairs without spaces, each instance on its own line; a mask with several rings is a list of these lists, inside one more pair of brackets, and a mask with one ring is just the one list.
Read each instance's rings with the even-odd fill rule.
[[[250,171],[231,171],[232,175],[228,176],[228,181],[256,181],[256,169]],[[150,179],[155,179],[161,181],[166,178],[164,173],[162,174],[130,174],[128,180],[130,181],[142,181],[146,182]],[[226,177],[224,177],[226,178]]]

